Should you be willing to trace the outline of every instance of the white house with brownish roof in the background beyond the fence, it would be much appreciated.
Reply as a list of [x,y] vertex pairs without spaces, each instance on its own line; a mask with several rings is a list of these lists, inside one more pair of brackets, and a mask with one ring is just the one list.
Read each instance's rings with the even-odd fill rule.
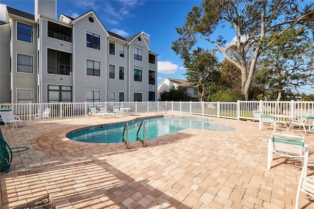
[[168,91],[172,86],[180,87],[186,90],[191,97],[197,97],[198,92],[196,86],[191,86],[187,80],[176,79],[176,78],[165,78],[159,83],[157,87],[158,96],[163,91]]

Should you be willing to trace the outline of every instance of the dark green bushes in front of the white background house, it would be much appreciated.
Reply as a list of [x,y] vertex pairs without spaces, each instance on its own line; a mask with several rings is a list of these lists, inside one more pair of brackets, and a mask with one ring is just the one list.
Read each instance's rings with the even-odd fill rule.
[[195,97],[190,97],[183,88],[175,88],[172,86],[169,91],[163,91],[159,93],[158,101],[189,102],[198,101],[198,99]]

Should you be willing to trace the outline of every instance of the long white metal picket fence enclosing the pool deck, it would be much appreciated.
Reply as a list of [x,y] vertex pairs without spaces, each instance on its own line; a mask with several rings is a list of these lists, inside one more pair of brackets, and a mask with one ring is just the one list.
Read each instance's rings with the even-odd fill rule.
[[234,103],[222,102],[121,102],[121,103],[27,103],[27,104],[0,104],[0,109],[11,109],[13,114],[23,120],[34,121],[38,110],[51,108],[52,119],[86,117],[89,105],[105,105],[113,112],[114,106],[131,108],[131,113],[176,111],[182,113],[207,115],[232,119],[252,119],[253,110],[260,110],[263,114],[285,114],[301,116],[303,113],[314,114],[314,102],[264,102],[264,101],[237,101]]

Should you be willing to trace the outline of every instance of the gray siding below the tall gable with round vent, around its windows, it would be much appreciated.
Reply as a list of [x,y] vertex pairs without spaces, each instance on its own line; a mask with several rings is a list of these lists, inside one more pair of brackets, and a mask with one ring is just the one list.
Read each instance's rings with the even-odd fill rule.
[[[88,15],[74,25],[74,96],[75,102],[86,101],[86,90],[100,90],[101,101],[106,101],[106,31],[98,21],[88,21]],[[96,16],[93,16],[96,20]],[[86,47],[86,30],[97,33],[101,38],[100,50]],[[87,76],[86,59],[101,62],[100,77]]]

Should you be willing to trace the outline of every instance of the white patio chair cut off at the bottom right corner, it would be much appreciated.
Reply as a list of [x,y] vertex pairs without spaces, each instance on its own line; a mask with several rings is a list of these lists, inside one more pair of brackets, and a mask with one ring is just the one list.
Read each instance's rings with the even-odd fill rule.
[[314,175],[307,176],[308,166],[314,167],[314,164],[304,164],[302,168],[298,189],[296,191],[295,209],[298,209],[299,206],[300,191],[307,194],[309,200],[314,199]]

